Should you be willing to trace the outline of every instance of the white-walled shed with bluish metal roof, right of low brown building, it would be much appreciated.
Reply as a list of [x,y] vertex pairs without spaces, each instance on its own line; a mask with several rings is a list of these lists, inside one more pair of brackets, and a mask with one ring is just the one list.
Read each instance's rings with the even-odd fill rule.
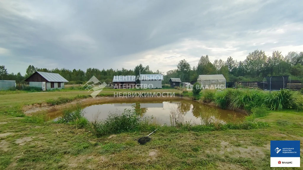
[[162,88],[162,74],[140,74],[140,85],[144,89]]

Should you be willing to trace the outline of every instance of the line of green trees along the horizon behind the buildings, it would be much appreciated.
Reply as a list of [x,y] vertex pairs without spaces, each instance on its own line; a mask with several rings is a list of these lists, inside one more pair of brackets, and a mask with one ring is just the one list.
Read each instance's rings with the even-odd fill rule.
[[[8,74],[5,66],[0,66],[1,80],[16,80],[16,83],[24,83],[23,81],[32,75],[35,71],[44,71],[58,73],[65,79],[70,81],[70,84],[82,84],[95,76],[101,82],[112,82],[116,75],[139,75],[141,74],[160,74],[159,70],[152,71],[147,65],[137,65],[134,69],[113,70],[113,69],[98,69],[88,68],[83,70],[68,70],[62,69],[47,69],[38,68],[33,65],[28,66],[26,74],[22,76],[18,74]],[[181,78],[182,82],[197,80],[200,74],[223,74],[227,81],[262,81],[266,76],[291,76],[291,80],[303,80],[303,52],[289,52],[283,56],[281,51],[273,51],[271,56],[267,56],[262,50],[255,50],[246,56],[244,61],[234,60],[231,56],[226,61],[215,60],[213,63],[209,61],[208,55],[201,56],[198,64],[191,67],[185,60],[179,61],[177,68],[169,70],[164,75],[162,83],[168,83],[170,78]]]

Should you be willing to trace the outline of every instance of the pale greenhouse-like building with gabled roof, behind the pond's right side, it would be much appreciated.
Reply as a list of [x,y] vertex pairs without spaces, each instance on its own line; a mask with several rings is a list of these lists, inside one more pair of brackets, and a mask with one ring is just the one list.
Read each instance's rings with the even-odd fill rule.
[[202,85],[203,89],[225,89],[226,79],[223,74],[206,74],[199,75],[197,82]]

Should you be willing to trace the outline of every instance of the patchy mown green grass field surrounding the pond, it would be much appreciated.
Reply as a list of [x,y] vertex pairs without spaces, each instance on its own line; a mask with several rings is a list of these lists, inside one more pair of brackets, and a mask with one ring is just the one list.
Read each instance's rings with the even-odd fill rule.
[[[146,92],[164,91],[179,92]],[[86,94],[57,91],[0,95],[0,169],[270,169],[270,140],[301,140],[303,145],[302,111],[273,111],[257,118],[268,123],[264,129],[175,132],[163,128],[146,145],[139,145],[137,140],[148,133],[97,138],[85,129],[44,122],[43,115],[11,114],[18,106]],[[301,149],[301,157],[302,153]]]

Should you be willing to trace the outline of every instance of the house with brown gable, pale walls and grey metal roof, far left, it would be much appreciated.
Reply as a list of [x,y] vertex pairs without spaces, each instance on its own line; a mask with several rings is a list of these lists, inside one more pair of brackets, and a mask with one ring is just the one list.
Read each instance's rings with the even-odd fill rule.
[[29,82],[30,87],[39,87],[42,90],[62,89],[64,82],[68,82],[58,73],[36,71],[24,81]]

